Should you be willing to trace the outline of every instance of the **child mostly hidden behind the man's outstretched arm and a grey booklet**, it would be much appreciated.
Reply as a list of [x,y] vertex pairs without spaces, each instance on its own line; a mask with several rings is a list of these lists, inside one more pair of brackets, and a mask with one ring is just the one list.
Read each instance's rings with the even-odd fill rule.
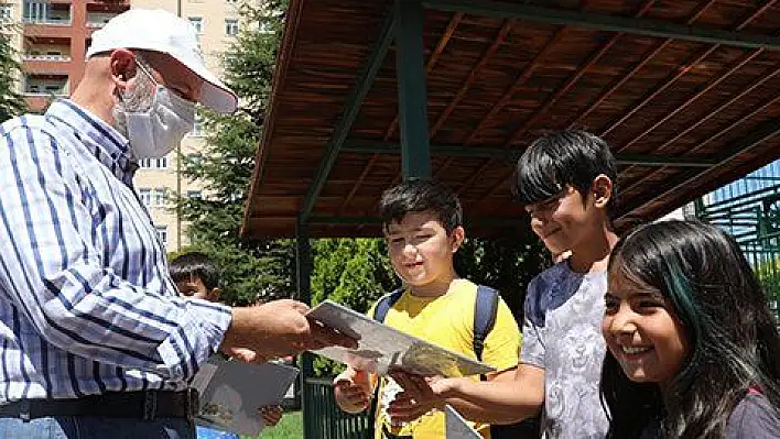
[[[169,271],[182,296],[208,301],[219,300],[219,270],[204,253],[182,254],[171,261]],[[282,408],[279,406],[260,407],[258,411],[268,427],[275,426],[282,419]],[[201,426],[197,426],[197,437],[198,439],[239,439],[236,433]]]

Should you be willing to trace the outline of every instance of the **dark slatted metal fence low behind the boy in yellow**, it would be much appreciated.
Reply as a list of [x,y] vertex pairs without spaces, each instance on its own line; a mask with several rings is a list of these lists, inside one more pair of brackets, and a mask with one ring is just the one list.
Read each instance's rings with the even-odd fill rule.
[[333,395],[333,381],[306,378],[304,395],[304,437],[317,439],[372,439],[370,410],[350,415],[342,411]]

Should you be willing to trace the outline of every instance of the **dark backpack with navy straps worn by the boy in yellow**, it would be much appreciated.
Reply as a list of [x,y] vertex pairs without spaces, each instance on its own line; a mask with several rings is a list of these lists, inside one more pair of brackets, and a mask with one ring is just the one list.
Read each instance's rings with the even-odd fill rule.
[[[390,294],[382,296],[373,310],[373,319],[384,322],[384,318],[390,311],[390,308],[403,296],[403,289],[399,288]],[[485,339],[496,325],[496,312],[498,310],[498,299],[501,296],[498,290],[489,286],[477,286],[477,299],[474,303],[474,353],[477,360],[483,360],[483,350],[485,350]],[[485,376],[480,377],[485,380]],[[539,419],[530,418],[517,424],[510,425],[491,425],[491,439],[531,439],[539,438]]]

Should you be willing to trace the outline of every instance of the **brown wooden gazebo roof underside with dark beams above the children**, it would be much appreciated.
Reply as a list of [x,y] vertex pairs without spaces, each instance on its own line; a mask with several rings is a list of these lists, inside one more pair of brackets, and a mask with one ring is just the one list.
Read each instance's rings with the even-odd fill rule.
[[[618,227],[669,212],[780,156],[778,3],[423,1],[431,174],[487,234],[523,221],[526,145],[584,128],[620,163]],[[245,234],[378,234],[401,179],[396,10],[291,1]]]

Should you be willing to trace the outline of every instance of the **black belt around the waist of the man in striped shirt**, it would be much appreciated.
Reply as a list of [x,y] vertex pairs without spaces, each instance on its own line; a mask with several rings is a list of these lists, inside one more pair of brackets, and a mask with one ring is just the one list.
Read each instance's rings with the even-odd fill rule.
[[56,416],[101,418],[186,418],[193,420],[199,408],[194,388],[182,392],[109,392],[75,399],[21,399],[0,405],[0,417],[24,420]]

